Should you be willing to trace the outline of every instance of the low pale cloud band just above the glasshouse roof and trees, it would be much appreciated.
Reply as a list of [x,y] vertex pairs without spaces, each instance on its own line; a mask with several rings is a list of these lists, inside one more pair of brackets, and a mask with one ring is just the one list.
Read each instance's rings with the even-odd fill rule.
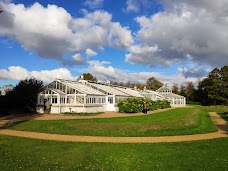
[[114,81],[114,82],[132,82],[145,84],[148,78],[155,77],[164,84],[172,85],[174,83],[182,84],[186,81],[197,81],[195,78],[186,79],[182,74],[178,75],[163,75],[159,72],[131,72],[112,67],[107,61],[90,61],[89,67],[82,69],[80,72],[90,72],[99,81]]

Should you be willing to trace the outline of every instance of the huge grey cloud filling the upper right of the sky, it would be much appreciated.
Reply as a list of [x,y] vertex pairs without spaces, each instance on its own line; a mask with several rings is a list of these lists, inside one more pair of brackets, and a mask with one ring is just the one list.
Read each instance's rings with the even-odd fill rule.
[[[188,60],[189,54],[199,64],[218,67],[228,63],[228,1],[161,2],[163,12],[135,19],[140,25],[138,44],[129,49],[127,61],[166,66]],[[159,51],[148,50],[155,46]],[[136,47],[140,53],[135,53]]]

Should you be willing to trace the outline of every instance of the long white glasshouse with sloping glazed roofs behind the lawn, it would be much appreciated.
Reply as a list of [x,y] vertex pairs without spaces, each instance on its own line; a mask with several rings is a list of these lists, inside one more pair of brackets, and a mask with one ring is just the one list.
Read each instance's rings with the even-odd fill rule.
[[86,80],[56,79],[38,94],[37,112],[44,113],[46,100],[52,105],[50,113],[118,111],[118,101],[129,97],[168,99],[171,106],[185,105],[183,96],[165,93],[162,88],[158,91],[142,91]]

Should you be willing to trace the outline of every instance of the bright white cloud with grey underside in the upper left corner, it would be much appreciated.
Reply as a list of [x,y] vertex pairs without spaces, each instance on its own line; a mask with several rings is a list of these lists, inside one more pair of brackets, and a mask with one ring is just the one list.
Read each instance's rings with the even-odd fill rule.
[[[3,4],[0,18],[0,34],[14,38],[28,50],[40,56],[62,60],[63,54],[71,52],[73,34],[68,27],[72,18],[63,8],[39,3],[26,8],[19,4]],[[1,22],[8,18],[9,24]]]

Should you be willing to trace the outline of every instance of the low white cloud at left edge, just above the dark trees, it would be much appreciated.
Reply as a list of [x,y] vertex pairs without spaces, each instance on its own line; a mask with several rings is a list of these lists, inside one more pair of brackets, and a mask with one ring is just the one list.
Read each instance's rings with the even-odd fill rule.
[[42,80],[44,81],[44,83],[50,83],[55,78],[68,80],[76,79],[66,68],[42,71],[28,71],[20,66],[10,66],[8,70],[0,69],[0,80],[23,80],[30,77]]

